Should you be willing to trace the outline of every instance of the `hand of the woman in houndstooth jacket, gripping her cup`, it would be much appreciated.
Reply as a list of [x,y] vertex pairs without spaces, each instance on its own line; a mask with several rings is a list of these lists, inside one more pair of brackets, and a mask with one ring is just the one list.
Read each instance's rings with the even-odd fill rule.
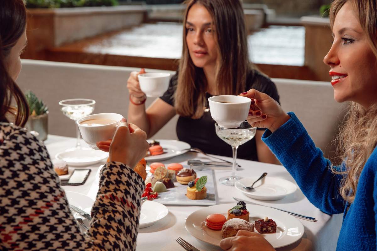
[[112,140],[99,141],[97,147],[110,153],[110,161],[118,161],[129,167],[134,167],[145,157],[149,144],[147,134],[134,124],[128,124],[122,119]]

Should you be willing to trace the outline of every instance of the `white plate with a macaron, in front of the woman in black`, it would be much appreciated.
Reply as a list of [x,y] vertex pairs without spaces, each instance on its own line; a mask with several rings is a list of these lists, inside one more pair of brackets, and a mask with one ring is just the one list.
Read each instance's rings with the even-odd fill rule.
[[[147,140],[148,143],[152,140]],[[161,160],[167,160],[178,155],[184,154],[188,150],[183,151],[184,149],[189,149],[191,146],[183,141],[179,140],[155,140],[160,143],[160,146],[164,149],[164,153],[160,155],[153,155],[145,157],[146,161],[155,162]]]

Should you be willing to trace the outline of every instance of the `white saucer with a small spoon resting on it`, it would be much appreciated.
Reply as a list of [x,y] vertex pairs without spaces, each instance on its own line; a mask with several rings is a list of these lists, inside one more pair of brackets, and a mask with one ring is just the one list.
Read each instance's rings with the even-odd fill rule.
[[297,190],[296,184],[290,181],[268,176],[255,183],[254,190],[249,191],[244,189],[244,186],[251,186],[258,178],[259,177],[257,176],[243,178],[237,181],[234,186],[246,196],[262,201],[276,201],[290,195],[291,193],[294,193]]

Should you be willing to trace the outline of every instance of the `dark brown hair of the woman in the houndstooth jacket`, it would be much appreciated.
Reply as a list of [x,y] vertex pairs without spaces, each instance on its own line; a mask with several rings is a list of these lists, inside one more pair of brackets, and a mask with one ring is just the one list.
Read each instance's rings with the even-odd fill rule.
[[[8,73],[6,58],[26,29],[26,9],[23,0],[0,1],[0,122],[8,122],[11,113],[14,123],[25,126],[29,106],[25,96]],[[17,104],[12,109],[12,99]],[[16,110],[16,111],[14,111]]]

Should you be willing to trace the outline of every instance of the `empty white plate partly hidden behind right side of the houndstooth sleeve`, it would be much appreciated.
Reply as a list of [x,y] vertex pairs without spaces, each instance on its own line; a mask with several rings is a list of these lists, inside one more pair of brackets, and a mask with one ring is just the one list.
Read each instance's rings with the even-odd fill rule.
[[144,201],[141,204],[139,228],[152,226],[164,219],[169,210],[161,203],[155,201]]

